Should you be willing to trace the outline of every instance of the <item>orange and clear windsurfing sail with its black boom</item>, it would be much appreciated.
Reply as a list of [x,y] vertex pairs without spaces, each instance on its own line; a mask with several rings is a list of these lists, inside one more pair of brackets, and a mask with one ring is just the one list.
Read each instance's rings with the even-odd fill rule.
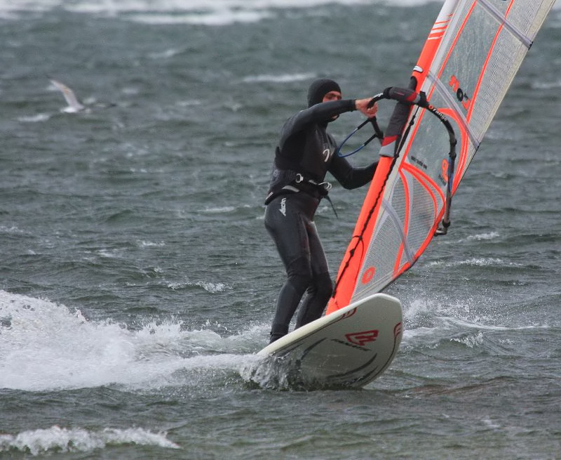
[[384,289],[446,231],[451,198],[554,3],[445,1],[409,88],[377,97],[398,103],[327,314]]

